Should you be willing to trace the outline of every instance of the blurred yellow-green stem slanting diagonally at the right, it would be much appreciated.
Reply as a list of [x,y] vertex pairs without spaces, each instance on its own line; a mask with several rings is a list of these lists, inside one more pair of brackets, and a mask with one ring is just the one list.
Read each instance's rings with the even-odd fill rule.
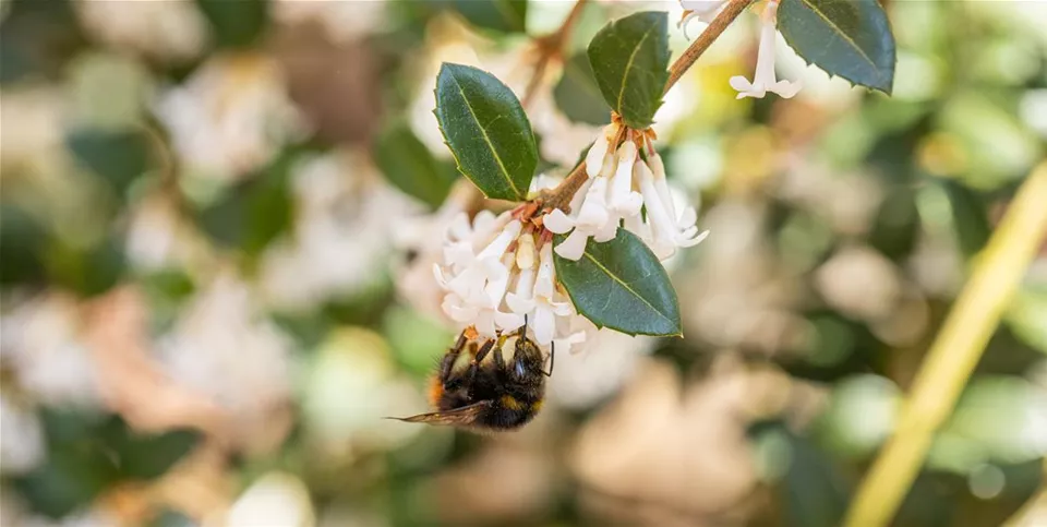
[[949,418],[1030,262],[1047,237],[1047,163],[1019,189],[931,345],[898,427],[872,464],[844,525],[886,526]]

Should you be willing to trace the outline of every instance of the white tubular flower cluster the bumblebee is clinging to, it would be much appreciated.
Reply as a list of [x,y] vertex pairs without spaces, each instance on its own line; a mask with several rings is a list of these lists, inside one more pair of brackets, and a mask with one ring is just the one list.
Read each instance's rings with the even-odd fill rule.
[[443,265],[433,270],[447,291],[442,308],[481,336],[527,323],[534,340],[568,349],[586,339],[582,320],[556,282],[551,238],[513,211],[459,214],[447,229]]

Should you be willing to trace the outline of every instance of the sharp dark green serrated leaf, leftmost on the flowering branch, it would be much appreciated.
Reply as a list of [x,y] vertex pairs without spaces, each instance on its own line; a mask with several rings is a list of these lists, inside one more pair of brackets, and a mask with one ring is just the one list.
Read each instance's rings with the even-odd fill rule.
[[458,170],[484,195],[527,199],[538,145],[508,86],[476,68],[444,63],[436,79],[436,119]]

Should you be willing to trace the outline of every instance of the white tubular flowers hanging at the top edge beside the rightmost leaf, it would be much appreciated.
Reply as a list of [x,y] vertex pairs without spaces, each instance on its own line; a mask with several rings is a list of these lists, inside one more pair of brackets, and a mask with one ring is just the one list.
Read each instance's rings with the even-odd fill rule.
[[[725,0],[681,0],[684,8],[684,17],[677,26],[683,26],[684,36],[687,35],[687,24],[698,19],[709,23],[725,3]],[[802,87],[799,82],[779,81],[774,73],[774,48],[778,38],[778,4],[779,0],[770,0],[760,13],[760,47],[756,58],[756,73],[753,81],[737,75],[731,77],[731,87],[738,92],[738,98],[763,98],[768,92],[775,93],[783,98],[792,98]],[[689,37],[688,37],[689,38]]]

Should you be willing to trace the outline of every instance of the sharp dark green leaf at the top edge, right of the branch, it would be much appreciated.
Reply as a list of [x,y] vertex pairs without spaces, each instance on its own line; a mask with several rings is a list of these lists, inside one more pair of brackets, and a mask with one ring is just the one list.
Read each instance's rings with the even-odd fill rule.
[[807,62],[890,95],[894,35],[877,0],[783,0],[778,28]]

